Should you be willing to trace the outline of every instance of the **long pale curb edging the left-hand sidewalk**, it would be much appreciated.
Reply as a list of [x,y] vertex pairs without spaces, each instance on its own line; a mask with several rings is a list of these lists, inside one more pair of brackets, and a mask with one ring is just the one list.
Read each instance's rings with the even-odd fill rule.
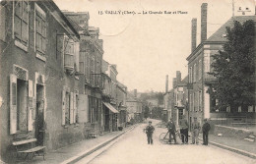
[[88,149],[87,151],[84,151],[84,152],[81,152],[63,162],[61,162],[61,164],[72,164],[72,163],[75,163],[75,162],[78,162],[79,160],[81,160],[82,158],[94,153],[96,150],[98,150],[99,148],[105,146],[106,144],[108,144],[109,142],[115,140],[117,137],[120,137],[122,135],[124,135],[125,133],[127,133],[128,131],[131,131],[132,129],[134,129],[137,125],[134,125],[130,128],[128,128],[127,130],[125,130],[124,132],[122,132],[121,134],[118,134],[116,135],[115,137],[111,137],[109,138],[108,140],[106,141],[102,141],[101,143],[98,143],[96,146]]

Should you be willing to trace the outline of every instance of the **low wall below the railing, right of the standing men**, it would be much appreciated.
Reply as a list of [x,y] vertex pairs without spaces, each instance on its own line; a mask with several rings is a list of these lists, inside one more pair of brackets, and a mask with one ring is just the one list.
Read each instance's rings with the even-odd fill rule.
[[216,125],[214,135],[223,134],[223,137],[244,138],[253,134],[250,130]]

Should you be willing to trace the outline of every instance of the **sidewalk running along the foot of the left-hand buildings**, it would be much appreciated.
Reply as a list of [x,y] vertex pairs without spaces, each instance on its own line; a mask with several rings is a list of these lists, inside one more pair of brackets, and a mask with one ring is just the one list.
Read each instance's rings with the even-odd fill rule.
[[[136,126],[136,125],[135,125]],[[134,126],[125,128],[123,131],[107,133],[101,137],[84,139],[82,141],[76,142],[74,144],[65,146],[55,151],[50,151],[45,154],[45,160],[41,156],[35,156],[30,161],[18,162],[19,164],[59,164],[68,163],[82,156],[86,156],[87,153],[90,154],[96,149],[108,143],[109,140],[113,140],[127,131],[131,130]]]

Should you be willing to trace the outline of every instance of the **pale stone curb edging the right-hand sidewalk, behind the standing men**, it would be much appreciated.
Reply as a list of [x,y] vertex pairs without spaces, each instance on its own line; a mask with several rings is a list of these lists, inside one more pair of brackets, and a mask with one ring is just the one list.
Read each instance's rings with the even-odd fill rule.
[[[201,141],[203,140],[201,137],[199,137],[199,139]],[[227,145],[224,145],[224,144],[220,144],[220,143],[217,143],[217,142],[214,142],[214,141],[209,141],[209,143],[213,144],[215,146],[224,148],[226,150],[229,150],[229,151],[232,151],[232,152],[235,152],[235,153],[238,153],[238,154],[250,157],[252,159],[256,159],[256,154],[254,154],[254,153],[251,153],[251,152],[248,152],[248,151],[244,151],[244,150],[241,150],[241,149],[237,149],[237,148],[233,148],[233,147],[230,147],[230,146],[227,146]]]

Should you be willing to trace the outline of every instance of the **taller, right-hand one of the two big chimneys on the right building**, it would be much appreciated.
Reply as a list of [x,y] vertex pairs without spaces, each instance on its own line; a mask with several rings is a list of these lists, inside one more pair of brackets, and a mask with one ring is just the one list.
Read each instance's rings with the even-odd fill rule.
[[201,42],[207,39],[207,3],[201,6]]

